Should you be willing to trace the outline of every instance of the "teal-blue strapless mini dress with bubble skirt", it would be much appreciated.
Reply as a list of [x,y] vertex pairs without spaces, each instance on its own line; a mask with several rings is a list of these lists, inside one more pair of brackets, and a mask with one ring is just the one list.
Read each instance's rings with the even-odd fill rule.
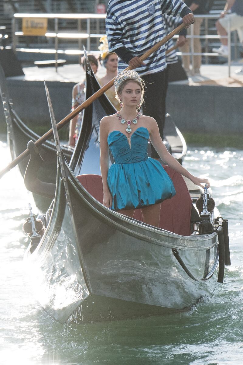
[[120,131],[108,135],[107,142],[115,161],[107,175],[113,197],[112,210],[143,208],[175,195],[172,180],[160,162],[148,157],[148,140],[149,131],[145,127],[133,132],[130,144]]

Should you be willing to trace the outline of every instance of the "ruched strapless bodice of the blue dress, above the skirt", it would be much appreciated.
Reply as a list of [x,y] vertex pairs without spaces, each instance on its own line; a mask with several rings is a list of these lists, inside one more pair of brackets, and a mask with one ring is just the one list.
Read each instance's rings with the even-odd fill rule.
[[115,164],[131,164],[146,160],[148,140],[149,132],[145,127],[137,128],[129,139],[120,131],[110,132],[107,138]]

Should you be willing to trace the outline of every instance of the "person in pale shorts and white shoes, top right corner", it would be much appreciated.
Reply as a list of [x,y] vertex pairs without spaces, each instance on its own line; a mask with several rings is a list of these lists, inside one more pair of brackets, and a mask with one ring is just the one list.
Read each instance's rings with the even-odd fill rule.
[[[231,13],[229,14],[231,10]],[[226,1],[224,10],[222,11],[219,20],[216,22],[217,34],[226,36],[228,33],[228,22],[230,21],[231,31],[237,30],[240,42],[243,45],[243,0],[228,0]],[[228,57],[228,39],[220,38],[222,46],[213,48],[213,52],[217,52],[224,57]],[[236,71],[237,72],[237,71]],[[243,73],[241,68],[237,73]]]

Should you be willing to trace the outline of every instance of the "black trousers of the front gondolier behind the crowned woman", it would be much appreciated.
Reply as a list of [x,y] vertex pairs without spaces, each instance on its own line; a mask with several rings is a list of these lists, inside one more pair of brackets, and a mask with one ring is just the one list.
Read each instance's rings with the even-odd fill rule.
[[[153,117],[160,131],[160,137],[163,139],[163,130],[165,124],[165,97],[168,86],[168,76],[166,70],[142,76],[145,82],[144,93],[144,115]],[[151,157],[158,158],[159,155],[151,144]]]

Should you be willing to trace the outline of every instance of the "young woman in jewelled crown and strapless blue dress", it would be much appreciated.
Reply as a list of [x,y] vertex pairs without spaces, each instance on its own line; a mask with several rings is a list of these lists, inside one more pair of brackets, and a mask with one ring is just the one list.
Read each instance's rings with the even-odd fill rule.
[[[204,187],[209,181],[193,176],[168,152],[160,138],[156,120],[141,115],[144,82],[134,70],[123,71],[114,82],[121,110],[105,116],[100,123],[100,166],[103,182],[103,204],[133,217],[141,208],[143,222],[158,227],[160,203],[176,194],[171,178],[160,162],[148,157],[148,141],[162,161],[172,169]],[[110,165],[109,149],[114,158]]]

